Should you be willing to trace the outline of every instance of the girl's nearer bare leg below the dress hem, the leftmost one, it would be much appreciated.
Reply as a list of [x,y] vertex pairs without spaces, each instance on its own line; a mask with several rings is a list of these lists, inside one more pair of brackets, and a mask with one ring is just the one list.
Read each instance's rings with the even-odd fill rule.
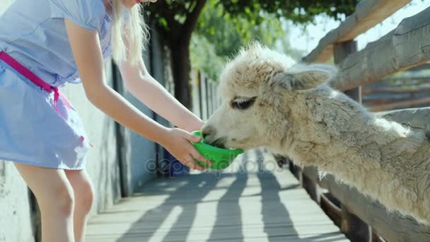
[[14,164],[39,204],[42,215],[42,241],[74,241],[74,192],[64,171]]

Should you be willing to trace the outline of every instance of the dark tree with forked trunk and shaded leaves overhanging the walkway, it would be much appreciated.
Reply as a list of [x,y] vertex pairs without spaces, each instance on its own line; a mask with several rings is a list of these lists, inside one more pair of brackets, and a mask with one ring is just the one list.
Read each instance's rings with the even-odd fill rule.
[[[159,0],[149,6],[151,20],[155,21],[158,33],[170,50],[175,96],[191,108],[190,98],[190,42],[197,26],[199,15],[205,4],[222,5],[231,16],[248,18],[250,23],[264,23],[263,13],[274,13],[294,23],[312,22],[320,13],[339,18],[354,11],[357,0]],[[244,29],[245,30],[245,29]],[[245,30],[246,31],[246,30]]]

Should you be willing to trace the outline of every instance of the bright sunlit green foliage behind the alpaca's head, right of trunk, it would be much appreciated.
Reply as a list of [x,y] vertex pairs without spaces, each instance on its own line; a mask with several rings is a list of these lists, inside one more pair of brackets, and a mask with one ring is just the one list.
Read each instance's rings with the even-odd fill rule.
[[221,4],[210,1],[203,9],[192,37],[192,66],[202,70],[212,80],[218,80],[226,59],[252,40],[258,40],[296,59],[301,57],[302,53],[289,45],[286,22],[280,21],[272,13],[262,12],[261,15],[265,22],[256,25],[243,16],[232,18]]

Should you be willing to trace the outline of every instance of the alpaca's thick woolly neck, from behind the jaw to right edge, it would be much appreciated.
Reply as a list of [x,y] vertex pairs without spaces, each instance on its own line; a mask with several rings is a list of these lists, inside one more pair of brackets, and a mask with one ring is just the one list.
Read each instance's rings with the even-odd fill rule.
[[275,152],[331,173],[389,210],[430,221],[430,142],[424,132],[377,118],[334,91],[303,95],[294,102],[296,112],[284,112],[291,120],[287,142],[272,144]]

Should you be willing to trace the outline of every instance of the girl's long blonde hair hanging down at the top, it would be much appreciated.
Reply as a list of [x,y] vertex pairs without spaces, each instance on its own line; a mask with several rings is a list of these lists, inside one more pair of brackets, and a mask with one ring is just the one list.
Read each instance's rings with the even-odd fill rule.
[[[130,20],[124,23],[121,0],[112,2],[112,57],[118,64],[124,60],[137,64],[149,38],[148,27],[142,15],[143,7],[136,4],[130,9]],[[129,50],[124,45],[129,43]],[[127,56],[129,54],[129,56]]]

